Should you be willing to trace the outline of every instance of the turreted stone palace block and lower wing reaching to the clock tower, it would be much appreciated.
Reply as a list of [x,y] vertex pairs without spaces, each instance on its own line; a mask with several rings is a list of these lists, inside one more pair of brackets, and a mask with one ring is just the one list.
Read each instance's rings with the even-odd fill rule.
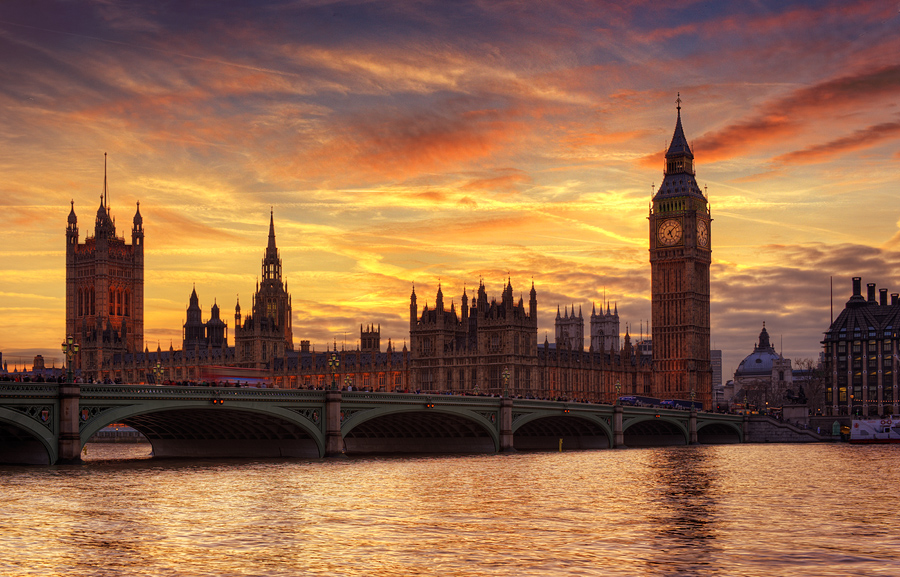
[[[444,307],[442,289],[435,306],[418,313],[410,296],[410,381],[417,390],[509,394],[612,402],[616,395],[649,395],[652,365],[631,345],[610,338],[608,349],[584,350],[584,322],[579,313],[557,312],[557,339],[537,344],[537,291],[532,284],[528,308],[513,297],[507,282],[500,300],[488,299],[484,283],[469,307]],[[592,315],[595,318],[601,315]],[[618,312],[610,324],[618,325]],[[579,332],[580,331],[580,332]],[[611,337],[611,335],[606,335]]]

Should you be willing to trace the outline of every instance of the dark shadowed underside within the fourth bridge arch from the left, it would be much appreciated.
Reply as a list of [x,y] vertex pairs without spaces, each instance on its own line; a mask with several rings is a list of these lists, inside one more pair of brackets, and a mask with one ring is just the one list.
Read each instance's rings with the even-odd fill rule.
[[544,417],[516,429],[513,446],[517,451],[558,451],[562,449],[608,449],[609,437],[602,427],[573,417]]

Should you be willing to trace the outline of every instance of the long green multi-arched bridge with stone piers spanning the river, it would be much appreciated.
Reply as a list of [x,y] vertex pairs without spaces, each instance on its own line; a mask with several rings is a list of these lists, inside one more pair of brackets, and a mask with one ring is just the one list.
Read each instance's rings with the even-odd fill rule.
[[741,416],[487,396],[0,383],[0,463],[77,462],[102,428],[157,457],[496,453],[740,443]]

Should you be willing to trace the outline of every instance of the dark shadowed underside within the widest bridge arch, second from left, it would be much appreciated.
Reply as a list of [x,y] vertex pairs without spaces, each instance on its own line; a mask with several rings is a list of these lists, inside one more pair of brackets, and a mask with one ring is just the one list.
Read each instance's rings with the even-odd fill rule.
[[304,429],[272,415],[185,409],[123,422],[147,437],[154,457],[319,457],[315,439]]

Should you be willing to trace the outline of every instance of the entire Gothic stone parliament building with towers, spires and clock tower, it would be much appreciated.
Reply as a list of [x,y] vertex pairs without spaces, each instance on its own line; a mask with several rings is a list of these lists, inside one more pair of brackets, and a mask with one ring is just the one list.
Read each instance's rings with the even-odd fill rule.
[[[538,297],[515,298],[507,279],[499,298],[483,281],[470,296],[445,304],[438,286],[433,305],[421,308],[415,287],[409,303],[409,346],[388,340],[380,326],[360,325],[356,350],[316,352],[308,340],[294,347],[291,297],[282,278],[275,218],[270,214],[261,281],[242,316],[235,303],[228,322],[217,303],[204,321],[200,298],[188,297],[181,348],[149,350],[144,332],[144,228],[140,203],[131,244],[117,235],[104,191],[93,235],[79,240],[74,201],[66,231],[66,331],[81,344],[76,371],[87,381],[167,382],[220,380],[256,372],[284,388],[487,393],[610,402],[619,395],[712,402],[709,336],[711,218],[697,185],[694,155],[681,124],[665,155],[664,178],[650,211],[649,252],[652,353],[620,338],[618,308],[592,305],[585,347],[581,307],[557,307],[555,339],[538,342]],[[650,354],[648,354],[650,353]],[[229,372],[233,369],[233,372]],[[243,371],[243,372],[241,372]],[[240,376],[232,380],[240,380]]]

